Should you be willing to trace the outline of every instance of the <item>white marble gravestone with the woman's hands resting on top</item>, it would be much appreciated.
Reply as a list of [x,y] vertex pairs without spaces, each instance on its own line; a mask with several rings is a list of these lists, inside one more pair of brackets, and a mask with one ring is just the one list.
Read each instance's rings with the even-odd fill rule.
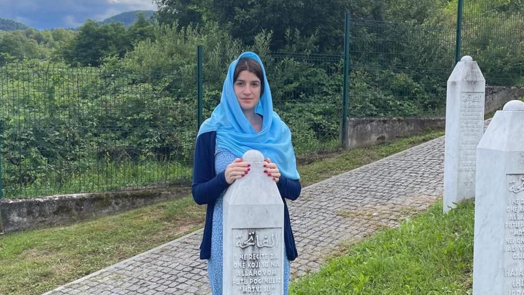
[[247,151],[251,170],[224,195],[223,294],[283,294],[284,205],[264,171],[264,156]]

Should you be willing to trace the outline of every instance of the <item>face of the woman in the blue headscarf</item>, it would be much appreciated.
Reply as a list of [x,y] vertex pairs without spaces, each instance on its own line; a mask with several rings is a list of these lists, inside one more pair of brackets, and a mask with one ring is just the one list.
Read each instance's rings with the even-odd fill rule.
[[234,89],[242,110],[254,110],[260,100],[260,79],[257,75],[250,71],[241,71],[234,83]]

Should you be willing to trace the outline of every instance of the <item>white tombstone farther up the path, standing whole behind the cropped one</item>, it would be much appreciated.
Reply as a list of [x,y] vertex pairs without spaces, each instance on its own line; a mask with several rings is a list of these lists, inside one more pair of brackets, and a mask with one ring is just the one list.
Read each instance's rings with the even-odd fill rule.
[[464,56],[447,80],[444,213],[475,196],[475,148],[484,130],[485,89],[477,62]]

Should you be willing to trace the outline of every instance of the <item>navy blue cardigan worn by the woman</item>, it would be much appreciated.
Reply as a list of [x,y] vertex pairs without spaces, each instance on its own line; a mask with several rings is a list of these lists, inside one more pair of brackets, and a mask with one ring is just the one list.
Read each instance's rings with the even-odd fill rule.
[[[193,199],[199,205],[207,204],[205,213],[204,237],[200,245],[200,259],[209,259],[211,256],[211,230],[213,228],[213,211],[215,201],[221,193],[229,186],[226,182],[224,172],[215,174],[215,143],[216,131],[202,133],[196,138],[194,162],[193,162],[193,185],[191,193]],[[300,181],[290,180],[281,175],[277,183],[278,191],[284,203],[284,242],[286,254],[289,260],[297,258],[297,247],[286,201],[283,198],[295,200],[300,195]]]

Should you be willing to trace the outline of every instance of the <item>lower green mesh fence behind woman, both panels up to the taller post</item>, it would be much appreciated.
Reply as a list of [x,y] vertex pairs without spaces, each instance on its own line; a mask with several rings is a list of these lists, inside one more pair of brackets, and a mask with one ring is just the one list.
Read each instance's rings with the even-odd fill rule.
[[[240,53],[202,51],[203,60],[209,58],[201,68],[202,111],[195,99],[196,57],[187,72],[0,68],[3,195],[189,183],[200,114],[209,117],[220,101],[227,66]],[[337,146],[341,56],[259,53],[275,111],[290,126],[297,152]]]

